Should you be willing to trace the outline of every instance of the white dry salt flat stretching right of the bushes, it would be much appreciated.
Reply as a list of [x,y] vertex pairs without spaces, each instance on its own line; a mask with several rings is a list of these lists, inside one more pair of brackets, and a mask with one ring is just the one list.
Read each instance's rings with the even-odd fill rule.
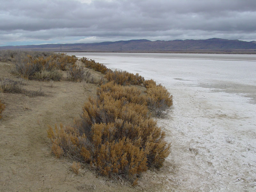
[[152,78],[173,95],[167,117],[157,119],[172,152],[162,171],[146,172],[140,186],[256,191],[256,55],[70,54]]

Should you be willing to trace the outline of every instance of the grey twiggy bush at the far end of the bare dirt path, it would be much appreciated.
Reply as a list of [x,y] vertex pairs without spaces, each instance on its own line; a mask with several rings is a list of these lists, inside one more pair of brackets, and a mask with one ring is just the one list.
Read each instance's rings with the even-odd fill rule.
[[91,72],[83,67],[70,67],[68,71],[68,79],[75,82],[88,82],[91,81]]

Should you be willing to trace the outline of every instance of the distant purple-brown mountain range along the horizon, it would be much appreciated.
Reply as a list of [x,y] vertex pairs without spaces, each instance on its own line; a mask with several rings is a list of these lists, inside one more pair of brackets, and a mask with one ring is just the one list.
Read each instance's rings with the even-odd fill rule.
[[256,53],[256,41],[228,39],[149,41],[147,39],[102,43],[2,46],[0,50],[54,52],[249,52]]

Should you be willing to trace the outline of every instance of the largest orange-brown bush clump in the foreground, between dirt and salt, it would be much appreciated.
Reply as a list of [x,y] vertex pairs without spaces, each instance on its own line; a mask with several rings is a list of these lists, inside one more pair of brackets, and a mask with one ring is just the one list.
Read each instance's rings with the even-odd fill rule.
[[140,92],[110,82],[97,95],[84,104],[82,119],[73,126],[48,129],[56,157],[69,156],[90,163],[102,175],[132,180],[151,166],[160,167],[170,144],[147,106],[133,100]]

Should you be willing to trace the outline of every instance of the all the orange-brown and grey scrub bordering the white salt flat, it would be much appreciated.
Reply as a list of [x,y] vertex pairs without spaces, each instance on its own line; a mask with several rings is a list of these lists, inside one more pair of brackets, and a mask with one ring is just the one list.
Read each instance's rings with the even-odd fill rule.
[[[163,116],[172,105],[172,95],[161,84],[144,80],[139,74],[112,71],[87,58],[81,58],[82,64],[78,64],[75,56],[65,54],[1,51],[0,56],[1,61],[14,62],[12,73],[24,79],[62,79],[100,85],[97,97],[85,102],[81,118],[70,126],[60,124],[47,130],[56,157],[88,163],[101,175],[121,176],[135,185],[141,172],[161,167],[169,155],[170,144],[164,140],[165,133],[151,118],[152,113]],[[104,74],[105,78],[95,80],[86,68]],[[67,71],[67,78],[62,78],[62,71]],[[44,95],[41,90],[24,89],[23,84],[4,79],[0,89],[28,96]],[[3,110],[0,101],[0,114]],[[80,166],[74,163],[72,170],[78,174]]]

